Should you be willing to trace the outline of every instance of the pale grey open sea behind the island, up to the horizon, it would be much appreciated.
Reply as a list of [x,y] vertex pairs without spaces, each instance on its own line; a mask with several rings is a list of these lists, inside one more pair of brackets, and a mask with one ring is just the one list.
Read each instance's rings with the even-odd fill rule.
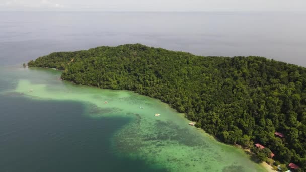
[[0,65],[53,51],[142,43],[205,56],[306,66],[306,13],[0,12]]

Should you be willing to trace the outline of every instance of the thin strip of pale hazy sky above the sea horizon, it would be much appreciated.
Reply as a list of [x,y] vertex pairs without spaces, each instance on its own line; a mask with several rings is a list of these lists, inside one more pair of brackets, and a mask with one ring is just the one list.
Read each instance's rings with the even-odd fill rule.
[[0,10],[306,11],[306,0],[0,0]]

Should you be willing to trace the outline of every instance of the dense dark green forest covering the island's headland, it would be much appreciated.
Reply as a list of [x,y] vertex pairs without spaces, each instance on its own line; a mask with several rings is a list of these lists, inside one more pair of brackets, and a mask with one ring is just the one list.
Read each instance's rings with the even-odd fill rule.
[[[264,57],[203,57],[141,44],[56,52],[29,67],[63,70],[61,78],[132,90],[170,104],[221,141],[270,150],[306,171],[306,68]],[[274,135],[281,132],[284,138]],[[254,144],[266,148],[259,150]],[[268,152],[268,153],[267,153]]]

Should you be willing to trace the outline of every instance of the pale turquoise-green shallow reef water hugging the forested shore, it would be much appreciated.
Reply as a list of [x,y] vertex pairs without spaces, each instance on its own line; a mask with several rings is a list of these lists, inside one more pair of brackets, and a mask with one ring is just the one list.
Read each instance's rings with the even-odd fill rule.
[[[102,109],[104,109],[105,106],[107,106],[106,109],[108,109],[108,108],[116,107],[117,105],[119,105],[124,110],[122,111],[124,112],[123,114],[117,113],[119,111],[114,110],[113,112],[110,112],[109,115],[111,116],[119,115],[121,117],[128,117],[129,115],[134,116],[137,113],[141,114],[144,111],[143,117],[141,115],[141,116],[138,116],[141,118],[135,118],[136,119],[134,121],[135,125],[134,124],[125,125],[127,128],[120,127],[122,130],[120,130],[120,132],[118,132],[117,134],[121,133],[121,135],[116,135],[116,138],[118,138],[121,141],[118,142],[118,140],[117,141],[114,140],[116,141],[115,146],[117,145],[121,149],[120,151],[115,151],[114,153],[116,154],[124,153],[124,154],[118,154],[119,156],[126,155],[126,157],[130,157],[130,155],[135,155],[133,157],[138,157],[140,159],[142,159],[143,157],[146,157],[144,158],[145,162],[153,161],[155,164],[160,165],[160,166],[165,166],[165,168],[167,169],[175,169],[173,171],[202,171],[203,169],[208,169],[211,163],[216,164],[216,166],[214,167],[215,169],[218,169],[216,171],[222,171],[222,169],[229,170],[232,168],[233,169],[235,168],[244,169],[243,171],[254,171],[254,172],[255,171],[267,171],[264,167],[260,166],[257,163],[252,162],[249,156],[245,154],[245,152],[242,151],[241,149],[237,149],[236,147],[233,147],[231,145],[226,145],[221,142],[218,142],[213,137],[211,137],[209,134],[205,133],[204,130],[200,130],[195,127],[189,126],[188,120],[184,118],[183,114],[178,114],[175,109],[172,109],[171,107],[169,107],[168,104],[163,103],[159,101],[158,99],[152,99],[147,96],[141,96],[131,91],[119,91],[118,95],[108,94],[108,93],[113,93],[113,91],[105,90],[105,89],[100,90],[94,87],[84,87],[84,86],[75,87],[78,85],[71,84],[70,82],[69,83],[67,82],[67,84],[61,84],[61,82],[58,81],[57,79],[55,79],[56,85],[58,84],[59,87],[56,87],[56,89],[51,90],[52,92],[50,92],[48,88],[54,88],[54,86],[52,84],[48,85],[49,83],[48,80],[54,80],[52,78],[58,77],[58,74],[59,73],[57,73],[56,75],[51,75],[50,79],[46,80],[47,81],[46,84],[45,83],[36,84],[36,83],[31,83],[31,80],[22,80],[21,82],[19,82],[18,84],[19,87],[16,89],[16,91],[29,93],[29,96],[38,96],[37,99],[39,100],[52,99],[55,101],[62,101],[62,100],[70,100],[72,98],[71,100],[73,101],[81,101],[81,102],[85,101],[87,105],[96,104],[98,105],[98,107],[102,107]],[[41,85],[47,85],[47,86],[41,87]],[[33,88],[35,89],[35,91],[29,92],[29,88]],[[66,92],[67,91],[66,89],[67,90],[73,89],[73,91]],[[63,95],[62,93],[67,93],[67,94]],[[106,97],[93,97],[94,94],[106,95]],[[73,95],[78,96],[78,97],[74,97]],[[39,98],[40,96],[41,98]],[[113,96],[115,98],[111,99],[111,97]],[[126,103],[123,103],[122,96],[129,97],[129,98],[135,98],[133,100],[137,102],[136,104],[134,104],[135,103],[134,102],[133,106],[131,106],[129,101],[124,101]],[[110,103],[107,105],[103,104],[105,98],[109,98],[109,100],[111,100]],[[130,100],[130,99],[124,99],[124,100]],[[148,103],[146,104],[147,105],[146,108],[144,110],[139,109],[138,108],[139,103],[144,103],[144,102]],[[87,111],[87,110],[93,109],[93,106],[87,106],[87,105],[85,106],[86,109],[84,112],[89,112],[89,113],[86,113],[84,115],[92,119],[100,119],[101,117],[107,117],[105,115],[101,115],[100,113],[95,114],[94,111]],[[165,118],[159,119],[159,118],[152,117],[151,113],[156,108],[158,110],[161,110],[161,112],[165,113]],[[92,112],[94,114],[90,115]],[[131,112],[131,113],[125,114],[125,112]],[[106,112],[106,113],[109,113],[109,112]],[[162,115],[162,117],[163,116],[164,115]],[[144,119],[144,120],[141,120],[141,119]],[[169,121],[173,121],[173,122],[169,123]],[[166,124],[166,125],[160,125],[160,124]],[[177,130],[179,128],[180,130]],[[133,132],[131,133],[131,131],[133,132],[136,131],[135,133],[139,133],[139,134],[135,135]],[[162,132],[157,132],[157,131],[162,131]],[[180,137],[176,139],[171,139],[171,138],[163,139],[161,138],[161,136],[163,137],[163,134],[161,135],[161,133],[163,133],[164,131],[168,131],[168,132],[165,132],[165,134],[171,132],[173,133],[173,135],[180,136]],[[186,131],[186,133],[184,131]],[[134,139],[131,140],[131,136]],[[152,143],[156,143],[155,141],[151,142],[150,139],[147,139],[147,138],[151,138],[152,136],[154,136],[154,138],[156,139],[161,138],[161,139],[156,140],[158,141],[158,143],[161,143],[161,145],[156,146],[157,144],[152,144]],[[197,137],[194,137],[194,136],[197,136]],[[186,140],[185,138],[188,138],[188,139]],[[142,143],[145,143],[145,144],[141,145],[142,144],[141,141],[144,141]],[[199,141],[203,141],[202,143],[207,143],[207,144],[201,144]],[[124,143],[124,144],[121,144],[121,143]],[[141,144],[139,145],[139,143]],[[132,149],[130,149],[131,147]],[[135,147],[137,149],[134,149]],[[150,151],[152,149],[154,149],[156,152]],[[224,151],[227,153],[224,153]],[[205,155],[207,155],[207,157]],[[224,159],[220,161],[216,159],[220,157],[224,157]],[[186,165],[186,164],[190,164],[190,165]],[[187,169],[194,169],[194,170],[187,170]]]

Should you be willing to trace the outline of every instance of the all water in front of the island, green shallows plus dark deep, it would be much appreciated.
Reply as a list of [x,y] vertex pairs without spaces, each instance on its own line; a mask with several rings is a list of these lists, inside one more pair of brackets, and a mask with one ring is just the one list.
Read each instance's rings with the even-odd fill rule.
[[264,171],[159,100],[74,85],[52,69],[1,70],[7,171]]

